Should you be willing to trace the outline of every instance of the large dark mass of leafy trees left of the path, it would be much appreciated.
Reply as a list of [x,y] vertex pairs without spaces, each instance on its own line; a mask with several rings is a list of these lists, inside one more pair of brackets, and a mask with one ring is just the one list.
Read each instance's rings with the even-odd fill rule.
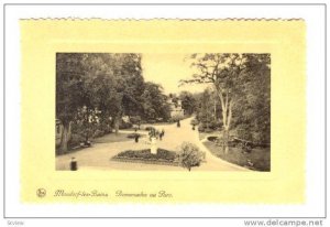
[[140,54],[56,54],[56,118],[64,126],[61,152],[67,151],[70,125],[88,140],[112,128],[118,132],[131,127],[123,126],[122,116],[169,117],[162,87],[143,79]]

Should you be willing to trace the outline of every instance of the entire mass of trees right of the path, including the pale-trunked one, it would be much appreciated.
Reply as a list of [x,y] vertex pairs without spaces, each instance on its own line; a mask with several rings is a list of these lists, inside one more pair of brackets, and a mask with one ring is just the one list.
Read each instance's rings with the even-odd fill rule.
[[213,101],[213,119],[220,119],[223,131],[241,126],[253,140],[270,142],[271,55],[210,53],[191,58],[198,73],[183,83],[209,83],[213,88],[200,97],[198,120],[209,122]]

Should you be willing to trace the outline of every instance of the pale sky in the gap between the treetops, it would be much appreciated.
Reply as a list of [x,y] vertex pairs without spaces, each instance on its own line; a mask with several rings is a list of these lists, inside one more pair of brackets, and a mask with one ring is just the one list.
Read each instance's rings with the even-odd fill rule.
[[165,94],[202,91],[207,85],[188,84],[178,87],[180,79],[193,78],[196,69],[190,67],[189,54],[142,54],[143,76],[146,82],[161,84]]

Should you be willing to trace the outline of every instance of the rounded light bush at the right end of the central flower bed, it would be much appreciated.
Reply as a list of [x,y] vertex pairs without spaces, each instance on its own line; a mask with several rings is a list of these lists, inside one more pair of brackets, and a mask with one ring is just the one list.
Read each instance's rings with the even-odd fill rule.
[[183,167],[187,167],[188,171],[190,171],[191,167],[200,165],[204,156],[205,154],[197,145],[189,142],[183,142],[178,153],[178,161]]

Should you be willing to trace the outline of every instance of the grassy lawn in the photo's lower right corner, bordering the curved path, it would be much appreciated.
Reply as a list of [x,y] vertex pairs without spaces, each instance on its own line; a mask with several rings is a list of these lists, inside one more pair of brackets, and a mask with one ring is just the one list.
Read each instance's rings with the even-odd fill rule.
[[228,153],[222,151],[222,148],[217,145],[215,142],[205,141],[204,144],[215,155],[244,166],[251,170],[257,171],[271,171],[271,149],[270,148],[255,148],[250,153],[242,152],[239,148],[230,148]]

